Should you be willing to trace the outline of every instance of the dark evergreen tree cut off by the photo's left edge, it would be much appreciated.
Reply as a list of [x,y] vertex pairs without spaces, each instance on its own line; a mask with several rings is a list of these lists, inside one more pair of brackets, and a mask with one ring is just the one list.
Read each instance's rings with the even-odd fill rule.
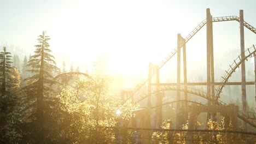
[[15,121],[11,117],[18,102],[14,92],[20,87],[19,71],[11,67],[10,54],[6,47],[3,47],[3,52],[0,52],[0,143],[9,143],[8,130],[11,128],[10,123]]

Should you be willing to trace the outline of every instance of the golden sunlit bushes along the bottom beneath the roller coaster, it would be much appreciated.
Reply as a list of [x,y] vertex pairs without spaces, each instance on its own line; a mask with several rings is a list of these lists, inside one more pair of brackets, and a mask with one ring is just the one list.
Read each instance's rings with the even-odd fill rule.
[[[226,119],[226,120],[225,120]],[[172,129],[171,121],[164,121],[162,129]],[[200,127],[201,124],[196,122],[195,127]],[[182,129],[188,129],[188,123],[183,125]],[[228,118],[223,118],[220,123],[214,122],[211,119],[206,124],[208,130],[232,130],[231,121]],[[187,139],[187,131],[158,131],[153,132],[152,139],[154,143],[185,143]],[[213,133],[213,132],[197,132],[192,133],[193,143],[248,143],[246,135],[233,134],[233,133]],[[248,136],[248,135],[247,135]]]

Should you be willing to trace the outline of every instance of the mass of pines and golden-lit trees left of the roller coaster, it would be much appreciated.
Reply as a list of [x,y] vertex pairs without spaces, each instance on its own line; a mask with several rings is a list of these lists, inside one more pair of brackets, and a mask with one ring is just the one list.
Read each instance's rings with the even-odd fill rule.
[[113,127],[120,119],[129,122],[136,106],[112,91],[104,62],[99,59],[95,73],[72,86],[60,84],[54,79],[60,70],[50,37],[43,31],[37,40],[21,71],[8,47],[2,47],[0,143],[113,143]]

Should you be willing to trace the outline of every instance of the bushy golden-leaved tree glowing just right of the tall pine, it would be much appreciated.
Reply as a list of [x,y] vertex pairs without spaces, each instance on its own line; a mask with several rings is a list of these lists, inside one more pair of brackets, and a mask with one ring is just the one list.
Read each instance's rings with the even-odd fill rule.
[[[77,80],[72,86],[61,86],[57,95],[57,109],[66,112],[60,121],[60,125],[65,125],[62,134],[71,143],[113,143],[115,137],[109,127],[129,122],[134,116],[132,111],[137,109],[131,101],[120,105],[117,95],[109,89],[111,78],[104,73],[103,66],[97,62],[95,74]],[[117,109],[122,111],[120,115],[116,114]]]

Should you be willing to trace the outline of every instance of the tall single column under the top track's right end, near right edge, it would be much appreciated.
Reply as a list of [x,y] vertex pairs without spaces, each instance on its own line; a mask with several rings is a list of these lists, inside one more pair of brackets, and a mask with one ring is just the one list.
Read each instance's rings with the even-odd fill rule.
[[[240,10],[240,45],[241,45],[241,59],[245,58],[245,35],[243,27],[243,10]],[[242,111],[246,115],[246,73],[245,61],[241,63],[241,91],[242,91]],[[246,130],[246,122],[243,121],[243,129]]]

